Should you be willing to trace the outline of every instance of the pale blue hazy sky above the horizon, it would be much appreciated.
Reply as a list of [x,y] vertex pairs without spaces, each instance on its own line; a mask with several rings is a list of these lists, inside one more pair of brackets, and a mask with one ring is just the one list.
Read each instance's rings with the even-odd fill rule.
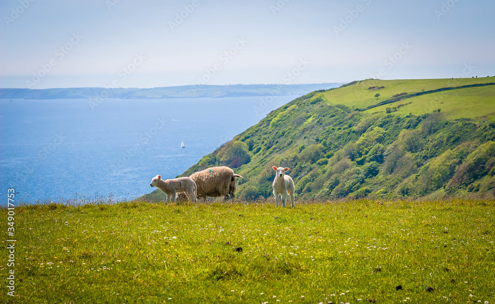
[[2,0],[0,87],[494,76],[494,12],[493,0]]

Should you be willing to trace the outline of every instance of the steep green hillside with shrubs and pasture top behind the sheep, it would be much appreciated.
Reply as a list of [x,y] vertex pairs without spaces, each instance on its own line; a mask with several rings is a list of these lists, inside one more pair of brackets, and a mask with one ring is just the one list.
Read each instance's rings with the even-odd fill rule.
[[[244,176],[238,195],[245,199],[271,197],[272,165],[291,168],[299,199],[492,191],[494,82],[364,80],[315,91],[272,111],[184,176],[230,166]],[[147,196],[162,198],[159,191]]]

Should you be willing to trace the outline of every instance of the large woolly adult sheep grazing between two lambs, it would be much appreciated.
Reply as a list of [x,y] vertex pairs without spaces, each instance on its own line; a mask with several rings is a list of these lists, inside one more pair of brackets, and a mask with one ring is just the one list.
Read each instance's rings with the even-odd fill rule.
[[[195,181],[198,187],[198,199],[206,197],[224,197],[224,202],[229,199],[229,195],[234,201],[237,190],[236,178],[243,178],[239,174],[235,174],[234,170],[229,167],[211,167],[202,171],[195,172],[189,176]],[[177,195],[177,199],[182,201],[185,197],[182,194]]]

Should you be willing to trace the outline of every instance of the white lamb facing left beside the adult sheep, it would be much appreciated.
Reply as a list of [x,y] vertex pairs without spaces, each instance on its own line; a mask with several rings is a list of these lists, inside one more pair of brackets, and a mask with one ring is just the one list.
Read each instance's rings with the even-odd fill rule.
[[194,180],[189,177],[171,178],[162,180],[160,175],[156,175],[149,184],[151,187],[158,187],[167,196],[167,203],[175,201],[175,194],[184,192],[191,202],[196,202],[198,187]]

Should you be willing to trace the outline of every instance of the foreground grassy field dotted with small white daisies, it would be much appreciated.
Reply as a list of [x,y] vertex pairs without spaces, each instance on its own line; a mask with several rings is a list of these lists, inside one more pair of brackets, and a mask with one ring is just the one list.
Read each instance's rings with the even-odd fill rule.
[[24,205],[15,209],[15,301],[495,303],[494,207],[492,199]]

